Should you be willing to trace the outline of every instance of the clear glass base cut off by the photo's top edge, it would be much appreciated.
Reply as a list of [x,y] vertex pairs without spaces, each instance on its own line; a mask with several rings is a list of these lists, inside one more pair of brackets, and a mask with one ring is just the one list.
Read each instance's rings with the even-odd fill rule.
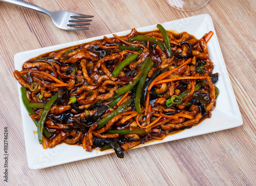
[[183,11],[191,12],[203,8],[210,0],[166,0],[166,2],[173,8]]

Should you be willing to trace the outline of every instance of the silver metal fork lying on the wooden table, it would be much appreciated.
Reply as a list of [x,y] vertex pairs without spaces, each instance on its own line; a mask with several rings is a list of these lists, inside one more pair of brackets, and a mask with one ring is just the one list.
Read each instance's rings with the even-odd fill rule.
[[6,3],[11,3],[11,4],[18,5],[18,6],[25,7],[25,8],[29,8],[29,9],[44,13],[46,15],[49,15],[52,18],[54,25],[56,25],[58,28],[64,29],[64,30],[87,30],[87,29],[90,29],[90,27],[74,27],[74,26],[91,25],[91,23],[88,23],[88,22],[93,21],[93,20],[92,19],[84,19],[84,18],[94,17],[93,15],[77,14],[77,13],[69,12],[66,10],[58,10],[58,11],[51,12],[51,11],[45,10],[41,7],[32,5],[30,3],[27,3],[27,2],[24,2],[21,0],[0,0],[0,1],[6,2]]

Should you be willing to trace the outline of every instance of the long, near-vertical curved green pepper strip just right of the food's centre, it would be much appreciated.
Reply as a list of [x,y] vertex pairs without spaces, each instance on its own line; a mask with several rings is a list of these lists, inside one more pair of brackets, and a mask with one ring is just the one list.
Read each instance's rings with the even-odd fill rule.
[[135,95],[135,107],[137,112],[140,114],[142,112],[141,106],[140,106],[140,98],[141,98],[141,91],[145,84],[145,80],[147,77],[148,72],[150,72],[150,69],[153,67],[154,62],[149,60],[145,67],[142,68],[142,74],[143,76],[140,78],[140,81],[138,83],[137,89],[136,89],[136,95]]

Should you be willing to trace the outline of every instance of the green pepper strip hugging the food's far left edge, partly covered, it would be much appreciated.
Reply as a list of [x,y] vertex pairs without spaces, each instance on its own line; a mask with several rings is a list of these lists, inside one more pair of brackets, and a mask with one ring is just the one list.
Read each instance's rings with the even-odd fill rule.
[[[29,114],[35,114],[35,111],[29,107],[29,99],[27,97],[27,89],[25,86],[23,86],[22,88],[20,88],[20,91],[22,92],[22,101],[23,104],[25,106],[25,108],[27,109]],[[36,126],[38,126],[38,121],[37,120],[33,120],[33,122],[35,123]],[[52,136],[52,133],[49,132],[45,127],[44,127],[44,134],[46,137],[50,138]]]

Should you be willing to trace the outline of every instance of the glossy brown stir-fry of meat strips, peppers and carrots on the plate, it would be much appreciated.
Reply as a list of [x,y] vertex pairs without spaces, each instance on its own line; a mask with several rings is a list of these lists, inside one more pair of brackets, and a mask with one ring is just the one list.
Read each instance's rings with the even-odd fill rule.
[[105,37],[26,61],[14,77],[44,148],[124,151],[211,117],[219,90],[207,42],[159,30]]

